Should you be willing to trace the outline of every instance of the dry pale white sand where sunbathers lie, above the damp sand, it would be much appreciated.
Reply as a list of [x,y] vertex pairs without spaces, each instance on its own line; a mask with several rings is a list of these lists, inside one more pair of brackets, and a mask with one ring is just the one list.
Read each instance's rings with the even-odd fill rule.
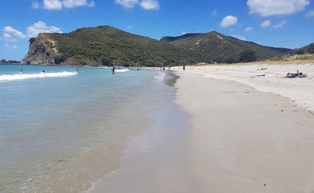
[[[267,68],[267,70],[257,70]],[[171,70],[182,71],[182,67]],[[287,72],[307,73],[309,78],[279,78]],[[186,71],[202,74],[207,78],[234,80],[252,86],[259,91],[280,94],[292,99],[292,102],[309,110],[314,110],[314,65],[223,65],[186,67]],[[253,72],[249,72],[253,71]],[[250,78],[255,75],[273,75],[273,77]]]

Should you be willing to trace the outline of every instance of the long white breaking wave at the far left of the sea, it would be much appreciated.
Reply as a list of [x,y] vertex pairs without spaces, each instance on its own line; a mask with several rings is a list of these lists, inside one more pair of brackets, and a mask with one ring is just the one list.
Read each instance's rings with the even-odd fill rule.
[[39,73],[39,74],[14,74],[14,75],[0,75],[0,81],[4,80],[24,80],[30,78],[45,78],[45,77],[61,77],[61,76],[71,76],[78,74],[77,72],[56,72],[56,73]]

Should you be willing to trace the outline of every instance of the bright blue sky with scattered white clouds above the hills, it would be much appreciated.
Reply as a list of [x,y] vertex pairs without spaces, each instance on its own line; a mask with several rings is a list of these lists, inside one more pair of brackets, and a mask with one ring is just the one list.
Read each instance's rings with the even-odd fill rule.
[[4,0],[1,7],[0,60],[22,60],[40,32],[98,25],[157,40],[215,30],[263,46],[314,42],[311,0]]

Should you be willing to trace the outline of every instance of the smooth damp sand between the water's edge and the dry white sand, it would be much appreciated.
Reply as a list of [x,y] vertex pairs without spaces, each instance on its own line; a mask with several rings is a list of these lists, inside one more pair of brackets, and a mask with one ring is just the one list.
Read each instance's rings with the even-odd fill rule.
[[174,103],[90,192],[314,191],[314,112],[235,81],[176,74]]

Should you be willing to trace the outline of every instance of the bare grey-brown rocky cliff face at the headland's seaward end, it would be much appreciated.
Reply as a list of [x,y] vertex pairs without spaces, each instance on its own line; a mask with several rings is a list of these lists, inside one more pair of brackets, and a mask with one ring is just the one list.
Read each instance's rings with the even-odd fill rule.
[[46,34],[39,34],[30,39],[30,49],[22,60],[23,64],[54,64],[54,57],[60,54],[55,47],[55,41]]

